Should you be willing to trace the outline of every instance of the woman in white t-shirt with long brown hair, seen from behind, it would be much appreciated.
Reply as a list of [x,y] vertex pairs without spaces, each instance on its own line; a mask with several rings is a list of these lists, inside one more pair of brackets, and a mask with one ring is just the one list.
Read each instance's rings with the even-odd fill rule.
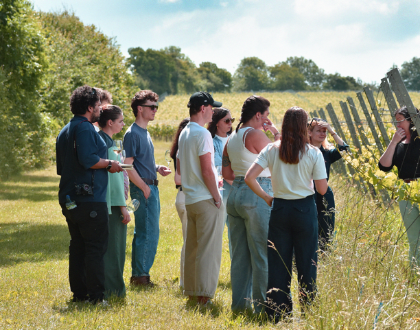
[[[281,127],[281,142],[271,143],[261,150],[245,176],[250,189],[272,207],[268,227],[266,311],[277,322],[292,314],[293,253],[303,305],[309,305],[316,294],[318,218],[313,182],[322,195],[328,183],[323,154],[309,144],[306,126],[305,110],[297,106],[288,109]],[[274,198],[261,189],[257,181],[267,168]]]

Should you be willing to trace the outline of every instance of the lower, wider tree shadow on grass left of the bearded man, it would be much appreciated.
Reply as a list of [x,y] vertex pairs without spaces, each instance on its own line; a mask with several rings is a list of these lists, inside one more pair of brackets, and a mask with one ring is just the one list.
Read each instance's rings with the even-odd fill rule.
[[66,259],[69,241],[65,224],[0,223],[0,265]]

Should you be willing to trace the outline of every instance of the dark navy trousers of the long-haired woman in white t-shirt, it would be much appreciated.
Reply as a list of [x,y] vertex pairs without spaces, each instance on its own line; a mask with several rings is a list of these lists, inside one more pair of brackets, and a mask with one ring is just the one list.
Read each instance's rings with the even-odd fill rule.
[[275,198],[272,203],[268,240],[267,299],[274,303],[267,314],[279,318],[293,310],[290,296],[292,257],[296,258],[301,303],[309,304],[316,294],[316,262],[318,249],[318,221],[314,195],[300,200]]

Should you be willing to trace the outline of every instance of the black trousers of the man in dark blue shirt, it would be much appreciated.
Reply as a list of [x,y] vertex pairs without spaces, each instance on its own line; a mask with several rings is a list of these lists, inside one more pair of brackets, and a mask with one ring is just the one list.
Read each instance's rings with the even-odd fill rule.
[[69,281],[73,300],[95,303],[104,298],[104,255],[108,247],[108,207],[106,202],[78,203],[67,210],[60,204],[71,236]]

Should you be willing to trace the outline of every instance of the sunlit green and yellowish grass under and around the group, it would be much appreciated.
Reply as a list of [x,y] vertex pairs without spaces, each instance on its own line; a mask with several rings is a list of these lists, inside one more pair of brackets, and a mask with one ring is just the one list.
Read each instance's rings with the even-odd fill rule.
[[[156,163],[165,164],[169,145],[155,143]],[[173,176],[159,180],[161,237],[151,270],[157,285],[151,290],[128,285],[127,297],[110,300],[106,308],[70,303],[70,237],[58,205],[55,168],[0,182],[0,329],[420,329],[419,280],[406,261],[408,244],[394,205],[377,205],[331,175],[337,234],[331,253],[320,256],[316,302],[305,317],[295,304],[296,317],[275,326],[231,314],[226,230],[215,307],[187,303],[178,289],[182,235],[176,189]],[[126,283],[133,228],[131,222]],[[292,286],[296,302],[296,279]]]

